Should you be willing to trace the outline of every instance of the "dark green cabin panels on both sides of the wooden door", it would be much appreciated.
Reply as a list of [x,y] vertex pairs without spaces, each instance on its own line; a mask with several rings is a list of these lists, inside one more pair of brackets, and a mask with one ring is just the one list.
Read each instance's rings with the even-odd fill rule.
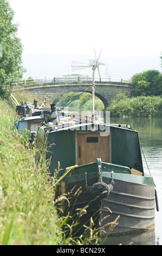
[[[87,130],[87,127],[85,130]],[[75,132],[76,130],[62,129],[60,131],[51,131],[48,132],[47,135],[44,135],[44,131],[40,128],[39,134],[42,139],[46,136],[45,144],[48,150],[46,157],[47,159],[51,159],[51,174],[58,168],[58,162],[60,162],[60,168],[63,170],[66,169],[66,167],[76,164]],[[79,132],[78,129],[77,132]],[[111,148],[111,162],[113,164],[125,166],[129,169],[138,168],[143,172],[140,142],[137,131],[111,126]]]

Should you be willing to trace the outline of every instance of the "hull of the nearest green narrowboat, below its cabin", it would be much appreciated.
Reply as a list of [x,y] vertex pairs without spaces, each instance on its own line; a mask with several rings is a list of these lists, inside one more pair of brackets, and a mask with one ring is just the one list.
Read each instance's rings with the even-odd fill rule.
[[86,214],[79,219],[78,230],[82,231],[81,227],[89,225],[92,219],[94,228],[100,228],[102,234],[135,233],[154,228],[155,188],[152,177],[128,174],[122,168],[121,173],[119,168],[115,173],[114,166],[112,176],[110,164],[102,165],[105,167],[101,172],[102,182],[113,184],[113,190],[105,198],[94,198],[86,187],[86,183],[88,187],[98,183],[98,163],[76,167],[64,179],[66,192],[74,191],[70,194],[72,202],[67,212],[75,215],[77,209],[86,209]]

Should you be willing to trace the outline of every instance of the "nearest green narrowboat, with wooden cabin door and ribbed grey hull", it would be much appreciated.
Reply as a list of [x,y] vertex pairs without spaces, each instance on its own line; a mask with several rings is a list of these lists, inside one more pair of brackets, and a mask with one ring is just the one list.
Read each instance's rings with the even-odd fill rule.
[[[155,185],[144,172],[138,132],[128,125],[52,121],[39,127],[38,147],[43,144],[46,149],[50,175],[60,162],[58,179],[64,193],[73,191],[73,198],[80,190],[75,204],[70,205],[74,214],[76,209],[86,208],[80,226],[93,218],[102,233],[154,228]],[[110,230],[108,223],[115,220],[118,224]]]

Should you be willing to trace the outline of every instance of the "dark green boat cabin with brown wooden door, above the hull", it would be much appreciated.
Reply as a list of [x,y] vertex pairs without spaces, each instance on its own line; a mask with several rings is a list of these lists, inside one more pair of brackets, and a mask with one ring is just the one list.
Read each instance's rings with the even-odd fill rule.
[[[69,166],[102,162],[128,167],[132,172],[143,174],[138,132],[105,124],[75,124],[74,126],[41,126],[38,144],[43,143],[46,159],[50,159],[50,173]],[[133,170],[134,169],[134,170]]]

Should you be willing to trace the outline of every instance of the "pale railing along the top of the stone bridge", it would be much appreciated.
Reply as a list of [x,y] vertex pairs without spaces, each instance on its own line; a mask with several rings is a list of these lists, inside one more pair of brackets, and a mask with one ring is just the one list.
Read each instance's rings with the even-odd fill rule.
[[[24,79],[20,82],[12,83],[14,86],[18,85],[27,85],[27,84],[35,84],[35,83],[61,83],[61,82],[91,82],[92,76],[57,76],[57,77],[43,77],[43,78],[30,78]],[[95,82],[124,82],[130,83],[130,78],[119,78],[119,77],[95,77]]]

